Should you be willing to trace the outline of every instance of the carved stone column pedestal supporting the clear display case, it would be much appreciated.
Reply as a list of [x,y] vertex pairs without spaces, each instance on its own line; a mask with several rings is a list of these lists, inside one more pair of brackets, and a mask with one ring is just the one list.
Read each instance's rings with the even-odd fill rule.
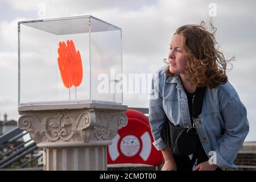
[[126,110],[108,104],[19,107],[18,127],[43,148],[44,170],[106,170],[106,146],[127,125]]

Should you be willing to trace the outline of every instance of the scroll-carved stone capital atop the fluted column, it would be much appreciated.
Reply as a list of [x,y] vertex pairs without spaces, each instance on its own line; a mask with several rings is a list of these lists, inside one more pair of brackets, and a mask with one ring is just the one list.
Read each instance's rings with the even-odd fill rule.
[[39,147],[107,146],[127,125],[125,110],[61,109],[20,111],[18,127]]

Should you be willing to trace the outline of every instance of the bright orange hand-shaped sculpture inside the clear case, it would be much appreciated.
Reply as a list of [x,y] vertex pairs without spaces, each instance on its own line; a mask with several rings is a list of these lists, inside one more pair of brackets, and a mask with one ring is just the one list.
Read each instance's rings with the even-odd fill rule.
[[72,40],[67,40],[67,44],[59,42],[58,53],[57,60],[64,86],[79,86],[82,82],[82,60],[79,50],[76,51]]

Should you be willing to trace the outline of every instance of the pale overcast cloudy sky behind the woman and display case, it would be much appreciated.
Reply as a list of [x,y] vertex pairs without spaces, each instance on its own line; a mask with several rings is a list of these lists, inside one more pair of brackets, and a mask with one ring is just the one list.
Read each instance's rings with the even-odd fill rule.
[[[92,15],[122,28],[123,73],[154,73],[164,65],[177,27],[199,24],[212,16],[217,42],[226,58],[236,56],[229,81],[247,108],[256,140],[256,2],[255,1],[67,1],[0,0],[0,120],[18,119],[17,22]],[[42,7],[46,7],[42,11]],[[123,104],[147,107],[147,94],[124,94]]]

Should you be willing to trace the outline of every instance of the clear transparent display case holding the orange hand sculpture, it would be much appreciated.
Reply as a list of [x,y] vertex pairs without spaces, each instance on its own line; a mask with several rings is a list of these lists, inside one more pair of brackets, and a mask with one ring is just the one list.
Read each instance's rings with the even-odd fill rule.
[[122,104],[122,30],[93,16],[18,22],[19,106]]

